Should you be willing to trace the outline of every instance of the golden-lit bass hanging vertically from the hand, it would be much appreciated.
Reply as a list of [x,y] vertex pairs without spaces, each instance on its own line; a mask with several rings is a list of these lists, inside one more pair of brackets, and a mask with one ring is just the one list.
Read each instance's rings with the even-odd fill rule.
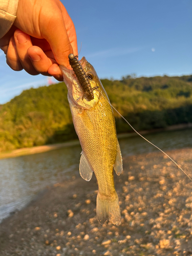
[[85,57],[78,62],[77,65],[82,67],[89,79],[93,99],[87,97],[82,81],[79,81],[73,69],[64,66],[60,66],[60,69],[68,88],[73,123],[82,148],[79,173],[86,181],[91,180],[93,172],[96,176],[98,222],[103,224],[109,220],[114,225],[120,225],[121,214],[114,185],[114,170],[120,175],[123,166],[113,109],[94,67]]

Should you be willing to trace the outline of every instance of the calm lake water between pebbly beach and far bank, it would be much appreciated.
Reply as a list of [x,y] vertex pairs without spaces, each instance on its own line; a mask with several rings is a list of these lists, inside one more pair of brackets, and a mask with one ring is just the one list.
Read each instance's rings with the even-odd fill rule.
[[[148,134],[147,140],[161,150],[192,147],[192,129]],[[119,139],[122,156],[157,152],[140,136]],[[22,209],[45,188],[78,175],[81,147],[0,160],[0,222]]]

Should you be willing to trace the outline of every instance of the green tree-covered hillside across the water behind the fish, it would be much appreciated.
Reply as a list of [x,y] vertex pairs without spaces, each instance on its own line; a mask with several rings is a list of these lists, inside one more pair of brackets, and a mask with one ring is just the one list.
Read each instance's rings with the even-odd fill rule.
[[[101,80],[111,103],[135,127],[192,122],[192,75]],[[117,133],[132,131],[114,112]],[[64,82],[24,91],[0,105],[0,151],[77,138]]]

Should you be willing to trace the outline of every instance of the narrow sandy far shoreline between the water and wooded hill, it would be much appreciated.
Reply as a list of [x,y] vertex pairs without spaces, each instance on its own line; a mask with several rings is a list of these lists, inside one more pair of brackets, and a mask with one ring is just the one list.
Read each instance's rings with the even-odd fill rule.
[[[139,133],[141,135],[145,135],[145,134],[152,134],[152,133],[159,133],[159,132],[184,130],[184,129],[190,129],[190,128],[192,128],[192,123],[182,123],[182,124],[170,125],[166,128],[153,129],[153,130],[147,130],[147,131],[139,131]],[[118,134],[117,138],[121,139],[121,138],[135,137],[135,136],[138,136],[138,134],[136,132],[132,132],[132,133]],[[52,151],[52,150],[57,150],[62,147],[69,147],[69,146],[76,146],[76,145],[80,145],[79,140],[72,140],[72,141],[56,143],[56,144],[49,144],[49,145],[42,145],[42,146],[18,148],[17,150],[13,150],[11,152],[0,153],[0,159],[38,154],[38,153],[48,152],[48,151]]]

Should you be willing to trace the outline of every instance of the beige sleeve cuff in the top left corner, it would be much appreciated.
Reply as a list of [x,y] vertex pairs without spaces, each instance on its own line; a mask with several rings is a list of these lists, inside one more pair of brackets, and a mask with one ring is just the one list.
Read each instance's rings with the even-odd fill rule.
[[16,18],[18,0],[0,0],[0,38],[11,28]]

